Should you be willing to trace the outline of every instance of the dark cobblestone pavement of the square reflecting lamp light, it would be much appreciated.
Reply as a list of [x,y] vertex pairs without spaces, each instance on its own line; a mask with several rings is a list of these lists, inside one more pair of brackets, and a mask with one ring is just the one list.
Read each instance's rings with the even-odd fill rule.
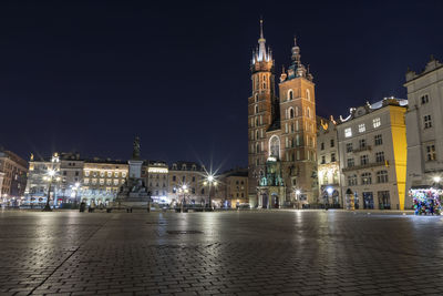
[[1,295],[443,294],[443,217],[0,212]]

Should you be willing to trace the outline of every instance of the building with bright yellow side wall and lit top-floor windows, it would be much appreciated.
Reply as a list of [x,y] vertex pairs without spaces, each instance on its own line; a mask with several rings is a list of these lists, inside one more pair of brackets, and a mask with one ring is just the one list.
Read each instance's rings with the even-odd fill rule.
[[352,108],[337,125],[347,208],[403,210],[406,178],[406,100]]

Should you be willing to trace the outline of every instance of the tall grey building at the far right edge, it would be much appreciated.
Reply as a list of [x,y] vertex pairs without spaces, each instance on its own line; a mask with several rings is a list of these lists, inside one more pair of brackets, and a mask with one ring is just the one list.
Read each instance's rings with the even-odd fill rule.
[[[443,182],[443,64],[431,57],[421,73],[406,72],[409,110],[406,190],[426,191]],[[412,198],[406,198],[411,207]]]

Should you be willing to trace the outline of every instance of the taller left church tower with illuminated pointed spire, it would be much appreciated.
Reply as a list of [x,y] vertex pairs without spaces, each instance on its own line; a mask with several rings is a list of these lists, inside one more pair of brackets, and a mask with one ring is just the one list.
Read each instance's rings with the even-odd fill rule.
[[248,99],[248,171],[249,197],[256,198],[260,175],[265,174],[268,155],[266,131],[272,123],[276,108],[274,60],[270,49],[266,49],[266,39],[260,20],[258,48],[253,52],[250,64],[253,92]]

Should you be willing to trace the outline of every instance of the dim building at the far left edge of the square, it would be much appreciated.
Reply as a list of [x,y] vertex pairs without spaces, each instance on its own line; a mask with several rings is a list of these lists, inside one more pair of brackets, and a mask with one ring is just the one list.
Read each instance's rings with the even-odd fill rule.
[[0,173],[3,173],[1,202],[19,205],[27,186],[28,163],[11,151],[0,151]]

